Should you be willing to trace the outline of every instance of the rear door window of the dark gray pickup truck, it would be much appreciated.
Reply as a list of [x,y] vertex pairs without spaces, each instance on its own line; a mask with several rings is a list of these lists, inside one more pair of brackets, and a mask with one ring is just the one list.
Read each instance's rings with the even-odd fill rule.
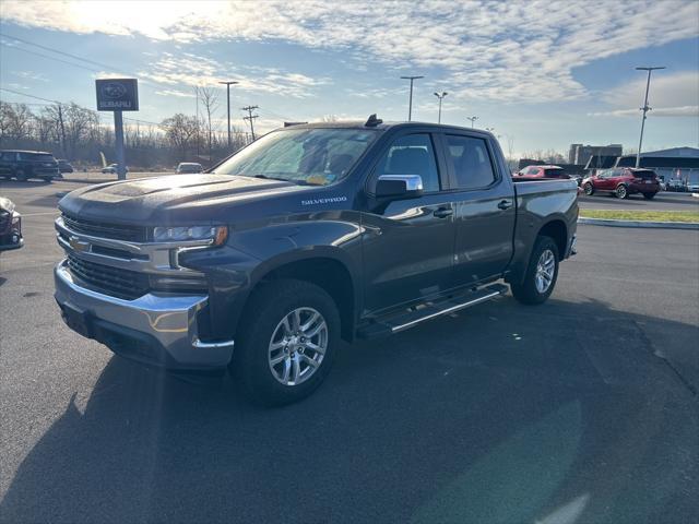
[[495,181],[495,170],[485,140],[453,134],[446,139],[459,189],[485,188]]

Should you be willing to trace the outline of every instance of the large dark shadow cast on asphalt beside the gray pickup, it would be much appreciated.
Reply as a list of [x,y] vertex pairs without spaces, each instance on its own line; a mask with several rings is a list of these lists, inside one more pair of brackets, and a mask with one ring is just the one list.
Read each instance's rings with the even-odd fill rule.
[[503,298],[344,346],[280,409],[114,357],[25,457],[0,520],[687,522],[699,410],[656,355],[659,322]]

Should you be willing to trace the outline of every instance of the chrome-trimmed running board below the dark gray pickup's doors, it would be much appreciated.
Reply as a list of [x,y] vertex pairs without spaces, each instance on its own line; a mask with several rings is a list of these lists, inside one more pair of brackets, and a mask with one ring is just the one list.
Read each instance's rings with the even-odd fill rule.
[[402,311],[376,322],[363,326],[357,330],[359,338],[374,338],[377,336],[386,336],[401,331],[410,330],[417,324],[427,320],[436,319],[443,314],[454,313],[462,309],[476,306],[478,303],[491,300],[508,291],[508,286],[502,284],[491,284],[474,291],[467,291],[458,297],[445,300],[438,303],[426,303],[418,306],[410,311]]

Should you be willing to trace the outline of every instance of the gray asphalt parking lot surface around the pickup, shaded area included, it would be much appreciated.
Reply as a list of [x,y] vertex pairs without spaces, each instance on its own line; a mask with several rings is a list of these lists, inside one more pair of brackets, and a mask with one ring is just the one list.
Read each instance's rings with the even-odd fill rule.
[[0,257],[0,522],[696,522],[699,231],[580,226],[547,303],[345,345],[261,409],[69,331],[51,223],[78,184],[32,183],[0,184],[26,238]]

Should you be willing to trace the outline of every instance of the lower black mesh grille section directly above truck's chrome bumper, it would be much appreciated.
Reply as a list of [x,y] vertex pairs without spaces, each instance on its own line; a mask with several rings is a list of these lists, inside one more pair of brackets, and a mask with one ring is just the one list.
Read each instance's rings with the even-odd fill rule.
[[149,276],[135,271],[111,267],[68,255],[68,269],[96,291],[111,297],[133,300],[149,291]]

